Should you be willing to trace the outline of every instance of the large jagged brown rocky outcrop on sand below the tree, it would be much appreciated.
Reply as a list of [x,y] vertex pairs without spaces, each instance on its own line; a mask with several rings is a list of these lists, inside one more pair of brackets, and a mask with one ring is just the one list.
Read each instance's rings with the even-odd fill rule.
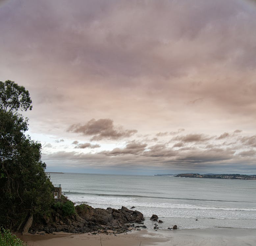
[[60,211],[53,213],[49,218],[44,218],[38,224],[33,224],[33,231],[87,233],[93,231],[123,233],[131,230],[126,223],[139,223],[144,220],[139,211],[121,209],[92,208],[81,204],[75,207],[76,214],[66,216]]

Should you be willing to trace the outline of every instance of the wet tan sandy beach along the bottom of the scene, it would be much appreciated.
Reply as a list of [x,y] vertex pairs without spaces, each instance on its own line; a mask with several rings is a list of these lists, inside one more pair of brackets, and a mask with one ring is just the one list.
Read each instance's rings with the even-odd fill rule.
[[118,235],[56,233],[26,234],[20,238],[28,246],[255,246],[256,229],[211,228],[177,231],[135,231]]

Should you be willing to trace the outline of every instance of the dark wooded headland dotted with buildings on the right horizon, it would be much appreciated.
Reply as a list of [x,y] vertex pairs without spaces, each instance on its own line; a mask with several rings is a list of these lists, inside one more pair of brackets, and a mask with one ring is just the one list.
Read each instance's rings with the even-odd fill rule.
[[245,175],[245,174],[177,174],[174,177],[185,177],[185,178],[221,178],[221,179],[251,179],[251,180],[256,180],[256,175]]

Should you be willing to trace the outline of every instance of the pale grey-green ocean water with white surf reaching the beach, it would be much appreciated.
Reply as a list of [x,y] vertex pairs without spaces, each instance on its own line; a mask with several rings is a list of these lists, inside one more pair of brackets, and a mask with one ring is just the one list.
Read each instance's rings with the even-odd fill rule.
[[[153,230],[152,214],[164,221],[159,230],[214,227],[256,229],[256,180],[173,176],[50,174],[55,186],[77,205],[140,211]],[[196,221],[197,219],[197,221]]]

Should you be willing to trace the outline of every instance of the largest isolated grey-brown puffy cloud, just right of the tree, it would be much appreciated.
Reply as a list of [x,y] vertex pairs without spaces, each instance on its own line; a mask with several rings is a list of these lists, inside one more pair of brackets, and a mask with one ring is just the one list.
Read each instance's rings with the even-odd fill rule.
[[90,140],[102,140],[102,139],[119,139],[124,137],[130,137],[137,133],[137,130],[125,130],[121,126],[114,126],[111,119],[91,119],[85,125],[73,124],[67,132],[82,133],[83,135],[93,136]]

